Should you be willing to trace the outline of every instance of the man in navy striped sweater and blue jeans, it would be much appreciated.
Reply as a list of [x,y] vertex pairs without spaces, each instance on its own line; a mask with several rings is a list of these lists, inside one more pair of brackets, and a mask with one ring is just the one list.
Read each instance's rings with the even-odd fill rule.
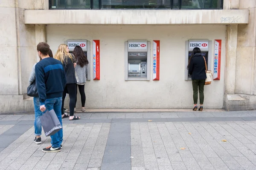
[[[37,84],[40,110],[45,112],[54,109],[62,125],[61,104],[62,92],[66,86],[66,74],[60,61],[50,58],[50,47],[47,43],[37,45],[38,56],[42,60],[35,65],[35,81]],[[51,146],[42,149],[43,152],[60,152],[63,140],[63,131],[59,130],[51,135]]]

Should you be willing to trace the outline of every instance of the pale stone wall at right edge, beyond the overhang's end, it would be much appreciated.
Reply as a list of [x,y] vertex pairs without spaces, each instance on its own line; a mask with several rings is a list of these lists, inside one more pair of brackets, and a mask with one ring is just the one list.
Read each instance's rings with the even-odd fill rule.
[[239,2],[239,9],[249,9],[250,23],[238,26],[235,92],[256,95],[256,1]]

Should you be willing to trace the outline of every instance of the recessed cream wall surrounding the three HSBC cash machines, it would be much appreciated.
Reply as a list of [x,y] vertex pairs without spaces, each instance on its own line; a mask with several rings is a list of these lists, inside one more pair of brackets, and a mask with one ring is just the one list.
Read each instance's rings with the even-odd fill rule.
[[[101,80],[85,85],[89,108],[190,108],[192,82],[184,81],[189,39],[222,40],[221,81],[205,86],[205,107],[222,108],[225,37],[226,26],[47,26],[53,53],[67,39],[100,40]],[[124,81],[124,45],[133,39],[160,40],[160,81],[152,81],[152,72],[151,81]]]

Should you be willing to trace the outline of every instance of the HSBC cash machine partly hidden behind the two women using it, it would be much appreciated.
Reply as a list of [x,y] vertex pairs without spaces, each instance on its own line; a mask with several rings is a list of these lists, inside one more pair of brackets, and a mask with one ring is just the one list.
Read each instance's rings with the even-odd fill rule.
[[73,53],[74,48],[76,46],[81,46],[81,48],[84,51],[85,56],[87,57],[87,60],[89,61],[89,64],[87,66],[88,72],[86,75],[86,80],[90,80],[90,41],[87,40],[67,40],[65,41],[65,44],[67,44],[70,53]]

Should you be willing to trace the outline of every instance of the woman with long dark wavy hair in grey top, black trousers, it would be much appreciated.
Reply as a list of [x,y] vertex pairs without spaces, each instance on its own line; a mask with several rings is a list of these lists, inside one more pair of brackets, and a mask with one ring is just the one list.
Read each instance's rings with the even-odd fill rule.
[[[84,106],[85,106],[85,100],[86,100],[85,93],[84,93],[84,84],[86,83],[87,65],[89,62],[81,46],[75,47],[73,55],[76,58],[76,64],[77,64],[75,68],[76,80],[77,80],[77,86],[81,95],[82,112],[84,112],[85,111]],[[77,101],[77,95],[76,95],[76,101]]]

